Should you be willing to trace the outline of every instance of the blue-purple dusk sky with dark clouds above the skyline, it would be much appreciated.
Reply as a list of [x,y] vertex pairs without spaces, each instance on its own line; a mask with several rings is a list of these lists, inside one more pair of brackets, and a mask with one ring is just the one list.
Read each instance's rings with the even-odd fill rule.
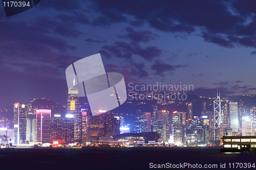
[[97,53],[126,84],[256,94],[255,7],[254,0],[41,0],[6,17],[1,4],[0,109],[41,97],[66,105],[66,68]]

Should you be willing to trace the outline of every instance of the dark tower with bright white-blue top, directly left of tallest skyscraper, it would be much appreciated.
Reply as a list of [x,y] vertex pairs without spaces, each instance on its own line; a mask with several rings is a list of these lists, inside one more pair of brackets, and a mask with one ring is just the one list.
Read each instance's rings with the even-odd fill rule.
[[74,115],[66,114],[63,118],[63,137],[66,143],[74,141]]

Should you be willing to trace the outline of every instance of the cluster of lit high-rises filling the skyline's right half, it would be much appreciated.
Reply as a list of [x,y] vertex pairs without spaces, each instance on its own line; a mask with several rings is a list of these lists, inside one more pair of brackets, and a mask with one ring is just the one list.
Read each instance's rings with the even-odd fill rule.
[[[170,145],[220,145],[223,136],[256,135],[256,107],[246,107],[243,101],[221,100],[220,126],[214,129],[214,112],[202,103],[201,116],[193,116],[193,103],[186,103],[186,112],[157,110],[152,113],[137,110],[134,132],[161,132],[158,142]],[[214,110],[214,108],[212,108]],[[217,136],[216,140],[215,135]]]

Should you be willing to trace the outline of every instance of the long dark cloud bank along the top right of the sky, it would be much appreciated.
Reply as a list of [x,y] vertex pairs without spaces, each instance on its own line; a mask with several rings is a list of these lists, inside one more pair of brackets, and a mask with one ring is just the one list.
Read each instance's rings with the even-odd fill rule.
[[[125,15],[137,20],[128,21],[133,26],[147,22],[163,32],[190,34],[196,27],[202,31],[206,42],[232,48],[234,45],[256,47],[256,16],[248,1],[94,1],[96,10],[102,14],[94,22],[110,25],[128,21]],[[131,5],[133,4],[133,5]],[[231,9],[231,11],[230,11]],[[236,14],[234,14],[236,12]],[[254,13],[254,15],[252,14]],[[115,15],[115,16],[113,16]],[[248,22],[249,18],[249,22]],[[246,23],[248,22],[248,23]],[[95,23],[94,23],[95,25]]]

